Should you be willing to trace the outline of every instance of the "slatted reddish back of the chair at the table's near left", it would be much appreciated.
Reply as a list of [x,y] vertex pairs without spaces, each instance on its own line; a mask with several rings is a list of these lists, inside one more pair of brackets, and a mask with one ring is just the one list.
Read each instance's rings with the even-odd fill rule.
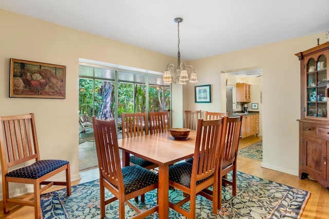
[[93,127],[100,174],[111,184],[124,188],[115,121],[93,116]]

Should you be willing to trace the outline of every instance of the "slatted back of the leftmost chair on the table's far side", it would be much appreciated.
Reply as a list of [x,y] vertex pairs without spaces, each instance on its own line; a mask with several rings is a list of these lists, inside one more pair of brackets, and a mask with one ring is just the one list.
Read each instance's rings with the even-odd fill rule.
[[146,112],[121,113],[122,138],[149,134]]

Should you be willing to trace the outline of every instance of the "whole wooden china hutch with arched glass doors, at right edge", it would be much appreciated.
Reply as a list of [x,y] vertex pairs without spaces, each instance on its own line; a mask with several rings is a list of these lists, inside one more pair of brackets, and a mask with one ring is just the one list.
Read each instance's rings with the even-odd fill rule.
[[328,58],[329,42],[295,54],[300,60],[301,118],[299,177],[329,187]]

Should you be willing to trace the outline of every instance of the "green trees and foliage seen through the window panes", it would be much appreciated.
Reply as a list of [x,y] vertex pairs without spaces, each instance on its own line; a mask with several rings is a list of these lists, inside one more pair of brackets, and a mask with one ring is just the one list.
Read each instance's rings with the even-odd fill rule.
[[[95,90],[94,90],[95,83]],[[106,85],[106,89],[105,86]],[[107,92],[107,93],[106,93]],[[134,96],[135,94],[135,96]],[[162,95],[163,101],[162,101]],[[104,99],[106,98],[106,100]],[[164,106],[162,105],[164,103]],[[134,106],[135,103],[135,106]],[[104,109],[105,107],[105,109]],[[159,112],[170,109],[170,88],[149,86],[149,111]],[[94,108],[94,110],[93,110]],[[111,108],[109,110],[108,108]],[[109,111],[109,116],[104,115]],[[118,117],[122,112],[146,111],[146,85],[134,83],[118,83]],[[108,113],[108,112],[106,112]],[[103,119],[114,118],[115,87],[112,81],[79,78],[79,114],[89,117],[96,115]]]

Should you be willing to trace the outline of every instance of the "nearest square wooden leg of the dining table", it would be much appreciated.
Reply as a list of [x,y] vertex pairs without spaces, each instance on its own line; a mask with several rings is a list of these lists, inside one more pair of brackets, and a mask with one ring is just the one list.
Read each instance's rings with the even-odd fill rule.
[[169,166],[159,165],[159,219],[169,218]]

